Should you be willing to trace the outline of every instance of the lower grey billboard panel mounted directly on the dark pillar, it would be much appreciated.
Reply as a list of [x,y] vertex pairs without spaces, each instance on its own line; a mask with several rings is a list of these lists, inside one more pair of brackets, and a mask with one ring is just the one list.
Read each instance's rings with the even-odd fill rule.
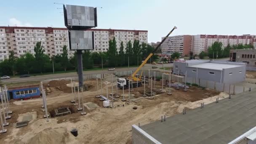
[[70,30],[69,46],[71,50],[93,50],[93,31]]

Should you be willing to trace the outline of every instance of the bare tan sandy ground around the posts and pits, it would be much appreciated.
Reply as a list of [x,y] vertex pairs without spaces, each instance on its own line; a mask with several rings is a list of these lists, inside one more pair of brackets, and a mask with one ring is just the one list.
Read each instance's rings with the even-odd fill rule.
[[[132,104],[125,104],[122,97],[114,101],[115,108],[104,108],[103,102],[95,98],[96,80],[91,80],[89,91],[83,92],[86,103],[97,104],[95,109],[87,109],[87,115],[80,115],[77,112],[79,106],[73,106],[72,93],[64,93],[56,88],[48,93],[47,107],[51,113],[53,109],[59,107],[69,107],[71,115],[53,117],[46,122],[43,118],[42,99],[29,99],[24,101],[14,101],[10,104],[13,111],[10,123],[7,126],[7,133],[0,134],[0,144],[131,144],[131,125],[140,123],[141,125],[160,120],[161,115],[173,116],[182,112],[184,107],[193,109],[200,107],[200,103],[205,104],[215,101],[216,97],[223,99],[228,97],[226,93],[219,93],[209,89],[191,87],[187,92],[172,89],[172,95],[167,92],[155,96],[155,99],[143,98]],[[156,88],[161,88],[161,82],[156,83]],[[103,95],[106,96],[106,84],[103,85]],[[99,85],[100,88],[100,85]],[[166,89],[168,90],[168,88]],[[114,93],[116,92],[114,84]],[[101,91],[99,90],[100,94]],[[108,93],[111,93],[111,85],[108,84]],[[118,89],[119,95],[122,90]],[[128,90],[125,90],[128,93]],[[134,88],[131,92],[134,98],[141,97],[143,87]],[[80,92],[80,96],[82,96]],[[111,98],[110,98],[111,99]],[[128,99],[126,96],[125,99]],[[124,107],[123,107],[124,104]],[[82,105],[82,104],[81,104]],[[138,107],[133,109],[133,107]],[[27,112],[36,112],[37,118],[29,122],[25,127],[16,128],[15,123],[19,115]],[[33,117],[34,118],[34,117]],[[73,136],[70,131],[77,128],[78,136]]]

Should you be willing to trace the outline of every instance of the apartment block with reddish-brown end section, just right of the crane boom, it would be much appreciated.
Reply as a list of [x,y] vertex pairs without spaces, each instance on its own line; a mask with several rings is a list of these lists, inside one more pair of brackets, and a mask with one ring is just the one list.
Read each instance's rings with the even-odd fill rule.
[[[163,40],[164,37],[162,37]],[[181,55],[189,54],[191,50],[191,35],[176,35],[168,37],[161,45],[163,53],[179,52]]]

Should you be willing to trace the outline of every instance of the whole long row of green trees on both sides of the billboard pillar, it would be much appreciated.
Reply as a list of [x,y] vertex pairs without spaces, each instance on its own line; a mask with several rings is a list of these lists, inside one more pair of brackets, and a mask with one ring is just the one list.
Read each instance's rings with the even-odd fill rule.
[[[66,71],[77,69],[76,53],[71,59],[68,59],[67,46],[64,45],[63,53],[49,57],[44,54],[41,42],[37,42],[34,48],[35,54],[25,53],[24,56],[16,58],[14,52],[10,52],[9,59],[0,63],[0,75],[15,75],[29,73],[45,73],[55,71]],[[93,67],[122,67],[129,65],[139,65],[149,53],[154,51],[151,45],[146,43],[139,44],[139,40],[134,40],[133,44],[129,41],[126,45],[121,43],[120,51],[117,52],[115,38],[109,40],[107,52],[83,51],[83,68],[91,69]],[[155,61],[156,55],[151,60]]]

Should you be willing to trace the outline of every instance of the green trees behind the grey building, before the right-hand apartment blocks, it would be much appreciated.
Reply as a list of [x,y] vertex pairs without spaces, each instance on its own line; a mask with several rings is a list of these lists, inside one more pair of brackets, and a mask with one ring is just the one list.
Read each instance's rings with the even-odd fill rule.
[[208,53],[202,51],[199,54],[199,58],[203,59],[205,56],[209,56],[210,59],[217,59],[217,58],[225,58],[229,57],[229,52],[231,49],[245,49],[245,48],[253,48],[251,44],[238,44],[238,45],[227,45],[226,47],[222,48],[221,42],[214,42],[209,48]]

